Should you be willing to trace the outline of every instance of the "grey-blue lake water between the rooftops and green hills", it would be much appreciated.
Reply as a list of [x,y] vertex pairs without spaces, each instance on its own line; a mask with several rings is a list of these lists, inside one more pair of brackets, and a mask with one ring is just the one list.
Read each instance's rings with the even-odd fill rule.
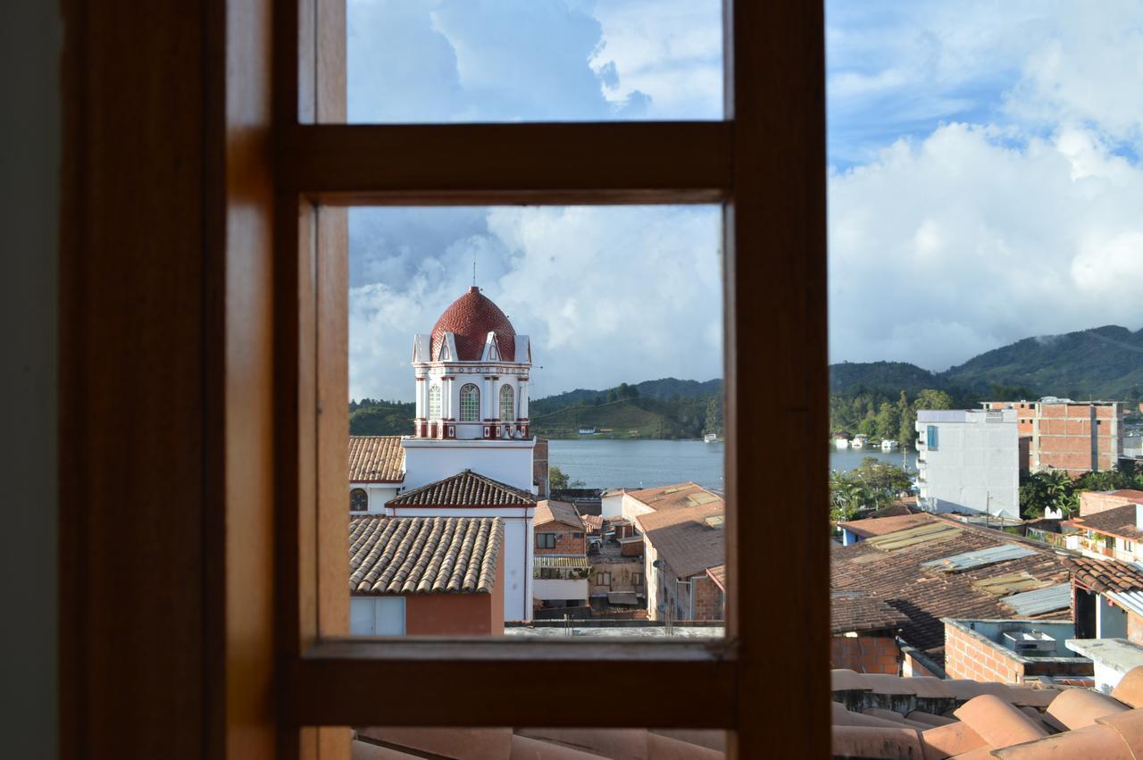
[[[650,488],[687,480],[705,488],[722,488],[722,454],[721,441],[598,439],[547,442],[547,463],[566,472],[569,479],[582,480],[588,488]],[[901,451],[831,449],[830,467],[852,470],[866,456],[901,464]],[[916,466],[917,453],[909,451],[909,467]]]

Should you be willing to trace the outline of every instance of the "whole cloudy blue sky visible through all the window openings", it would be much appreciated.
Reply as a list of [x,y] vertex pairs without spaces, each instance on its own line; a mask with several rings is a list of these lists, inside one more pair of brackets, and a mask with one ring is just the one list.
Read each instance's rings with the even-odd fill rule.
[[[721,118],[710,0],[349,0],[352,121]],[[831,360],[1143,320],[1143,5],[831,1]],[[357,209],[351,395],[471,282],[536,395],[721,374],[717,208]]]

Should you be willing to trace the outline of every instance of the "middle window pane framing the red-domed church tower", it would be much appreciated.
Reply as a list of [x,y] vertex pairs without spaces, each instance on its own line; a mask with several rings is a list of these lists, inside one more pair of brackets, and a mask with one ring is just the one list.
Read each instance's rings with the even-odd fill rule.
[[355,208],[349,267],[354,634],[722,635],[719,207]]

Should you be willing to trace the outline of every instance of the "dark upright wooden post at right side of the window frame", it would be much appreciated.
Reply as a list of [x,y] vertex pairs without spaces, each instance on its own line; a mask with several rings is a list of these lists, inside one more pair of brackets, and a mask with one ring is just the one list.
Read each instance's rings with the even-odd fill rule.
[[[830,754],[825,72],[820,2],[733,2],[726,217],[736,757]],[[748,509],[749,505],[749,509]],[[774,514],[782,541],[767,542]]]

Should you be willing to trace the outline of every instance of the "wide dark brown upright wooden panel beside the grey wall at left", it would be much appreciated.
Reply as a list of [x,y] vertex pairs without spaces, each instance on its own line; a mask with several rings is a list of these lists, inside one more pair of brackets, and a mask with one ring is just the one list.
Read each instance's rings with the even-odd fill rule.
[[207,750],[206,5],[64,3],[67,758]]

